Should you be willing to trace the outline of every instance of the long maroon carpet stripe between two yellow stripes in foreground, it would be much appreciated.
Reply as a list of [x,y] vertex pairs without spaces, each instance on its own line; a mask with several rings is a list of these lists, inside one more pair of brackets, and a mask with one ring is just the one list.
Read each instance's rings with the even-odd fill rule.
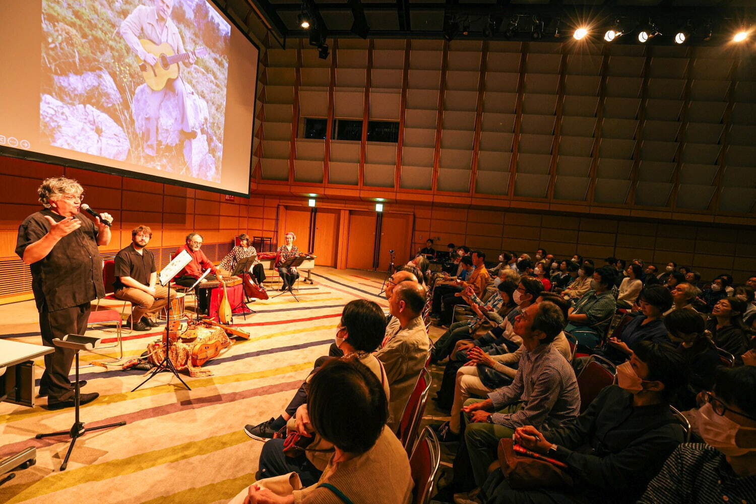
[[[196,397],[193,400],[187,400],[173,404],[164,404],[163,406],[147,408],[146,410],[126,413],[125,415],[121,416],[111,416],[110,418],[98,420],[97,422],[88,422],[86,424],[86,427],[97,427],[98,425],[105,425],[108,423],[120,421],[132,424],[141,420],[153,419],[157,418],[158,416],[170,415],[172,413],[179,413],[186,410],[197,410],[206,406],[214,406],[215,404],[222,404],[234,400],[249,399],[249,397],[296,390],[296,388],[299,388],[299,385],[302,385],[302,380],[276,383],[274,385],[267,385],[265,387],[250,388],[249,390],[233,392],[231,394],[215,394],[207,397]],[[245,420],[246,419],[239,419],[240,424],[245,422]],[[243,425],[240,425],[239,428],[243,428]],[[11,456],[14,453],[18,453],[27,447],[44,448],[52,446],[54,444],[67,443],[68,441],[70,441],[68,434],[63,434],[57,438],[29,438],[25,441],[18,441],[14,444],[6,444],[2,448],[0,448],[0,459],[4,459],[5,457]]]

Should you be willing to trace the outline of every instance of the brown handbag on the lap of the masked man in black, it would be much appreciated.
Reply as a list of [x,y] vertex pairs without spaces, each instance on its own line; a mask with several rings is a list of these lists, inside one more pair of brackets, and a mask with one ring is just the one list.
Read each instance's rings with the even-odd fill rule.
[[569,488],[575,483],[565,472],[567,465],[516,446],[512,438],[501,439],[497,453],[501,472],[513,489]]

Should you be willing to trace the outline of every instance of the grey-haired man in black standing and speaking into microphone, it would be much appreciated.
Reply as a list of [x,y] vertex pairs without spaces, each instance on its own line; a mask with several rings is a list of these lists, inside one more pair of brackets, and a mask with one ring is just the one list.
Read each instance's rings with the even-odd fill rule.
[[[45,208],[29,215],[18,227],[16,254],[31,265],[42,342],[55,348],[54,353],[45,355],[39,395],[48,396],[51,410],[60,410],[73,407],[68,375],[74,352],[55,347],[52,340],[84,334],[91,301],[105,295],[98,246],[110,243],[110,227],[104,221],[113,222],[113,217],[101,213],[104,221],[95,218],[94,223],[81,217],[84,189],[70,178],[46,178],[37,193]],[[81,404],[90,403],[98,395],[81,394]]]

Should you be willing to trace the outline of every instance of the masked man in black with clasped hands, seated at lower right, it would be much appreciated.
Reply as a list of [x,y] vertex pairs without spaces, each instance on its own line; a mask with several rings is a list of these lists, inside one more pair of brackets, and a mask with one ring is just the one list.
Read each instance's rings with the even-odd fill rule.
[[513,490],[502,472],[494,471],[482,501],[635,502],[665,454],[683,441],[669,399],[685,383],[685,363],[674,348],[642,342],[631,360],[618,366],[617,378],[618,385],[604,388],[575,422],[552,431],[532,425],[515,431],[516,444],[568,465],[572,488]]

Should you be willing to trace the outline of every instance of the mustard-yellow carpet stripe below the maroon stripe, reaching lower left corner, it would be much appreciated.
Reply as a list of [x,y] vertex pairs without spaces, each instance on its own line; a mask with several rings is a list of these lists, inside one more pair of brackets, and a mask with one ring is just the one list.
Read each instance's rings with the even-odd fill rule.
[[[30,485],[17,485],[24,488],[23,490],[19,489],[16,496],[8,501],[8,504],[76,487],[88,481],[105,481],[110,478],[144,471],[157,465],[179,462],[194,456],[207,455],[208,453],[246,443],[247,441],[252,440],[242,431],[233,431],[199,441],[189,441],[177,446],[161,448],[160,450],[137,453],[124,459],[110,460],[101,464],[85,465],[80,468],[69,469],[65,472],[49,475],[47,478],[43,478]],[[10,490],[11,493],[14,493],[15,489],[14,487],[8,487],[5,490]],[[236,490],[237,493],[239,490]]]

